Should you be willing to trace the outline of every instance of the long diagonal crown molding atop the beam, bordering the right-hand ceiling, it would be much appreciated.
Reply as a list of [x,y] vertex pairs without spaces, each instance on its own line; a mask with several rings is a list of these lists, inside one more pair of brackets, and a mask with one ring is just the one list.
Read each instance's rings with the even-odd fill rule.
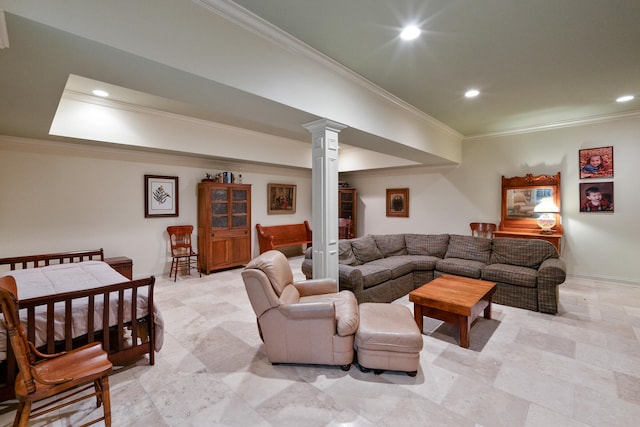
[[455,129],[445,125],[441,121],[431,117],[430,115],[424,113],[422,110],[414,107],[413,105],[407,103],[406,101],[398,98],[397,96],[387,92],[380,86],[372,83],[371,81],[365,79],[360,74],[354,72],[353,70],[345,67],[338,61],[328,57],[322,52],[314,49],[308,44],[298,40],[293,37],[291,34],[283,31],[282,29],[276,27],[272,23],[266,21],[265,19],[259,17],[253,12],[245,9],[244,7],[238,5],[237,3],[231,0],[192,0],[194,3],[204,7],[207,10],[214,12],[215,14],[223,17],[229,22],[232,22],[236,25],[241,26],[242,28],[251,31],[252,33],[270,41],[271,43],[280,46],[283,49],[296,52],[300,55],[303,55],[305,58],[310,59],[317,64],[341,75],[349,79],[351,82],[358,84],[359,86],[365,88],[369,92],[383,98],[384,100],[395,104],[396,106],[402,108],[403,110],[414,114],[419,117],[421,120],[427,122],[430,126],[436,127],[439,130],[458,137],[462,138],[463,135],[456,131]]

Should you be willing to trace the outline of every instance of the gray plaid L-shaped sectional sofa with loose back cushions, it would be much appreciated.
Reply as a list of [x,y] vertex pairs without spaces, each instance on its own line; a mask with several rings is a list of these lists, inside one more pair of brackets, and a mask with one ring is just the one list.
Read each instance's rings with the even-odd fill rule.
[[[544,240],[456,234],[367,235],[339,242],[340,290],[359,303],[391,302],[442,274],[498,284],[493,302],[543,313],[558,311],[566,266]],[[302,272],[313,276],[312,248]]]

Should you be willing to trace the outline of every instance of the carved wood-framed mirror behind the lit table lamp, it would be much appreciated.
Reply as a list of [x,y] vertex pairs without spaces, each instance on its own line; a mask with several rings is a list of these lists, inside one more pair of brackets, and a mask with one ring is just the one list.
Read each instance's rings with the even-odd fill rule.
[[[562,233],[560,224],[560,172],[556,175],[502,177],[502,221],[500,230],[540,231],[538,217],[541,206],[553,202],[557,206],[555,231]],[[536,209],[537,207],[537,209]],[[543,210],[543,212],[547,212]]]

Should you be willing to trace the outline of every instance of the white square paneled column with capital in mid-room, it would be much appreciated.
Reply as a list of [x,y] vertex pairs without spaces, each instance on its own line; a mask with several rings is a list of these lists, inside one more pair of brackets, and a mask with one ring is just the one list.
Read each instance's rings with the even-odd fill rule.
[[303,125],[311,132],[313,277],[338,280],[338,134],[346,126],[328,119]]

